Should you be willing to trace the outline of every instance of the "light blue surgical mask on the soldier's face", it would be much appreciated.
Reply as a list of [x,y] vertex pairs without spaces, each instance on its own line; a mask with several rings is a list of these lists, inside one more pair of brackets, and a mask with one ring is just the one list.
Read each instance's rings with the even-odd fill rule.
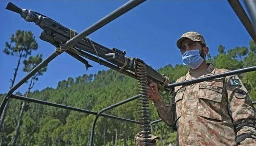
[[183,64],[191,69],[198,68],[204,61],[200,56],[199,50],[190,50],[182,54]]

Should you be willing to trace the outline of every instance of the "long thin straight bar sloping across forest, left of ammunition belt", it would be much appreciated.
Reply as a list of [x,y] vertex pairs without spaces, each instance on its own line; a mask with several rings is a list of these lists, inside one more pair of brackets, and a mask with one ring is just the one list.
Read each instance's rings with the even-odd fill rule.
[[[24,100],[24,101],[29,101],[29,102],[38,103],[38,104],[49,105],[49,106],[52,106],[52,107],[58,107],[58,108],[63,108],[63,109],[67,109],[67,110],[72,110],[72,111],[83,112],[83,113],[92,114],[92,115],[97,115],[98,114],[98,112],[95,112],[95,111],[84,110],[84,109],[81,109],[81,108],[75,108],[75,107],[71,107],[71,106],[67,106],[67,105],[51,103],[51,102],[48,102],[48,101],[33,99],[33,98],[19,96],[19,95],[11,95],[11,98]],[[106,115],[106,114],[101,114],[100,116],[104,116],[104,117],[111,118],[111,119],[117,119],[117,120],[121,120],[121,121],[125,121],[125,122],[131,122],[131,123],[139,124],[139,122],[137,122],[135,120],[120,118],[120,117],[117,117],[117,116]]]

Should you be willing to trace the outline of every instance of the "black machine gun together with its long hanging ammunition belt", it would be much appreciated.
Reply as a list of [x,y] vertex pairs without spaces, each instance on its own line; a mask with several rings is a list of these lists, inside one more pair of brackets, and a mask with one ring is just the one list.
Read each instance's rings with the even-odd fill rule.
[[[132,3],[135,3],[135,5],[138,5],[143,1],[144,0],[133,0],[130,4],[132,5]],[[138,91],[140,94],[139,107],[141,112],[141,117],[139,118],[139,121],[141,124],[141,130],[143,131],[140,132],[140,134],[142,134],[142,137],[146,139],[151,137],[149,127],[150,112],[148,108],[149,101],[147,85],[151,81],[154,81],[158,84],[158,88],[160,90],[171,92],[172,89],[166,88],[166,86],[170,83],[168,77],[158,73],[156,70],[148,66],[144,61],[139,58],[126,57],[125,50],[121,51],[116,48],[109,49],[103,45],[100,45],[97,42],[92,41],[87,37],[83,37],[78,42],[74,43],[74,45],[68,46],[66,45],[67,42],[76,35],[78,35],[78,33],[74,30],[61,25],[59,22],[45,15],[32,11],[31,9],[21,9],[11,2],[8,3],[6,9],[20,14],[20,16],[24,18],[27,22],[34,22],[37,26],[39,26],[43,30],[39,38],[54,45],[56,47],[56,54],[61,54],[65,51],[72,57],[82,62],[86,66],[86,70],[88,68],[91,68],[92,66],[83,57],[137,79],[139,88]],[[106,61],[101,59],[100,57],[105,59]],[[6,103],[7,100],[5,100],[4,102]],[[91,135],[91,145],[93,141],[92,137],[93,134]],[[150,141],[143,141],[142,143],[144,143],[145,146],[150,145]]]

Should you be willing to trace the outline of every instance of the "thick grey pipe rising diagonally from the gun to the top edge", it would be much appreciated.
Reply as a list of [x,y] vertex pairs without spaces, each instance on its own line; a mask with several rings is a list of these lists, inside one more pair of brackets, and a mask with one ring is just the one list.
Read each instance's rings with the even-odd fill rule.
[[94,31],[98,30],[99,28],[105,26],[109,22],[113,21],[114,19],[118,18],[119,16],[125,14],[129,10],[135,8],[139,4],[143,3],[146,0],[130,0],[121,7],[117,8],[110,14],[106,15],[104,18],[99,20],[98,22],[94,23],[90,27],[88,27],[86,30],[83,30],[81,33],[67,41],[66,43],[61,44],[60,48],[61,49],[67,49],[72,47],[75,43],[83,39],[84,37],[90,35]]

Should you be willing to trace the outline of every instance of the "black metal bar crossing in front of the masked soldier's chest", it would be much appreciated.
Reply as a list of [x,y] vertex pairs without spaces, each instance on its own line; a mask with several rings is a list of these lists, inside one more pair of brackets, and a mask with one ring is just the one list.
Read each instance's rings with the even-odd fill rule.
[[226,77],[226,76],[231,76],[231,75],[234,75],[234,74],[251,72],[251,71],[255,71],[255,70],[256,70],[256,66],[252,66],[252,67],[249,67],[249,68],[237,69],[237,70],[232,70],[232,71],[225,72],[225,73],[214,74],[214,75],[207,76],[207,77],[201,77],[201,78],[196,78],[196,79],[192,79],[192,80],[187,80],[187,81],[181,81],[181,82],[168,84],[168,85],[166,85],[165,88],[176,87],[176,86],[180,86],[180,85],[194,84],[194,83],[199,83],[199,82],[203,82],[203,81],[212,80],[212,79],[215,79],[215,78]]

